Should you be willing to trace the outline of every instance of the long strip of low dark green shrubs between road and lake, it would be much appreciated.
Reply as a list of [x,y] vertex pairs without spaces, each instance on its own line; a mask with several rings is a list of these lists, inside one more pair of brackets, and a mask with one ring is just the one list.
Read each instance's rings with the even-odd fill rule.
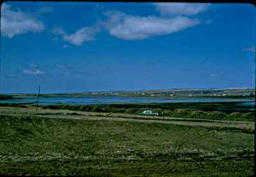
[[[206,104],[206,105],[205,105]],[[212,103],[214,105],[214,103]],[[230,107],[230,103],[219,103],[220,105],[226,105]],[[167,105],[167,106],[166,106]],[[171,105],[171,106],[170,106]],[[209,109],[207,103],[195,104],[191,108],[191,104],[109,104],[109,105],[81,105],[74,106],[69,104],[54,104],[41,106],[42,109],[51,109],[51,110],[74,110],[74,111],[92,111],[99,113],[129,113],[129,114],[140,114],[144,110],[153,110],[156,113],[159,113],[159,116],[166,117],[182,117],[182,118],[204,118],[210,120],[233,120],[233,121],[255,121],[255,114],[253,111],[216,111],[216,109]],[[209,104],[211,105],[211,104]],[[10,106],[17,108],[28,108],[29,105],[26,104],[8,104],[2,103],[0,106]],[[33,105],[35,106],[35,105]],[[188,106],[188,109],[182,108]],[[204,108],[207,107],[207,109]],[[208,110],[208,111],[207,111]]]

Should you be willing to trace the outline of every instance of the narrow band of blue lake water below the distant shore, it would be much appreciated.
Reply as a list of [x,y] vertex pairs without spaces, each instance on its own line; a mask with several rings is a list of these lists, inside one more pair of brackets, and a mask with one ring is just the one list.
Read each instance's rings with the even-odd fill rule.
[[[32,103],[36,104],[36,97],[22,99],[9,99],[0,103]],[[221,99],[221,98],[183,98],[164,99],[147,97],[40,97],[39,104],[113,104],[113,103],[204,103],[204,102],[248,102],[246,99]],[[250,100],[249,100],[250,101]],[[246,103],[247,104],[247,103]],[[255,104],[250,101],[249,104]]]

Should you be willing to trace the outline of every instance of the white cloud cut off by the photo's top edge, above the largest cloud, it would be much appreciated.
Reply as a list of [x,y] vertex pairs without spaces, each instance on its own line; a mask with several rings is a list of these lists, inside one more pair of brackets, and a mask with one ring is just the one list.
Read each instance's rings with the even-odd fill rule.
[[209,8],[209,3],[154,3],[161,15],[196,15]]

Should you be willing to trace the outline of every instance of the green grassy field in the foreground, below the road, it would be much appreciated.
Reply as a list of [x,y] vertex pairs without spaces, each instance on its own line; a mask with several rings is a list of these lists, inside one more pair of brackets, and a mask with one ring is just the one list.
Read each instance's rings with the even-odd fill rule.
[[0,109],[0,174],[253,175],[254,135],[242,129],[100,120],[88,115],[75,120],[77,113],[71,118],[61,114],[54,118],[46,112],[44,117],[32,112],[28,116],[26,108],[4,115],[6,108]]

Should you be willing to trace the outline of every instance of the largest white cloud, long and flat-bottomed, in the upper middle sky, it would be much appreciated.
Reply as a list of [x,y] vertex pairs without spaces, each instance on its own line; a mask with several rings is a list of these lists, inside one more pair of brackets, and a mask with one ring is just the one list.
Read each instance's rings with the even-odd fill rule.
[[109,20],[103,24],[108,29],[109,34],[126,40],[171,34],[200,24],[200,21],[196,18],[191,19],[180,16],[173,18],[140,17],[126,15],[118,11],[109,11],[106,15]]

